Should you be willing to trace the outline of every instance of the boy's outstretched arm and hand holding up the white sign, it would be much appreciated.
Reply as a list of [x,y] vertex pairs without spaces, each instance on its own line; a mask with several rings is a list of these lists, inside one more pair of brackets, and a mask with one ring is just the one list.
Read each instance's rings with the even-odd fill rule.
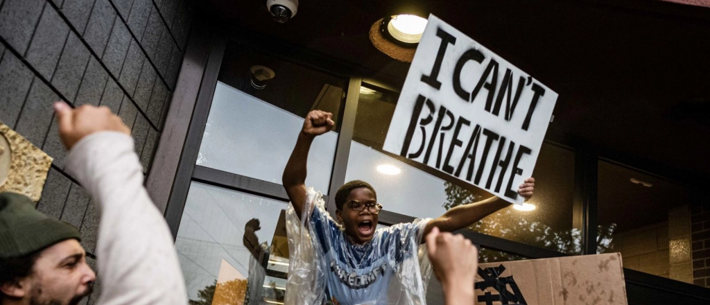
[[[523,184],[520,184],[520,189],[518,189],[518,194],[525,197],[525,200],[532,197],[532,191],[535,188],[535,178],[525,179]],[[449,209],[444,215],[432,219],[424,230],[424,234],[427,235],[432,231],[432,228],[439,228],[442,232],[453,232],[467,226],[471,226],[471,223],[480,221],[484,217],[493,214],[495,211],[506,208],[510,206],[510,202],[493,196],[488,199],[484,199],[473,204],[464,204],[461,206]]]

